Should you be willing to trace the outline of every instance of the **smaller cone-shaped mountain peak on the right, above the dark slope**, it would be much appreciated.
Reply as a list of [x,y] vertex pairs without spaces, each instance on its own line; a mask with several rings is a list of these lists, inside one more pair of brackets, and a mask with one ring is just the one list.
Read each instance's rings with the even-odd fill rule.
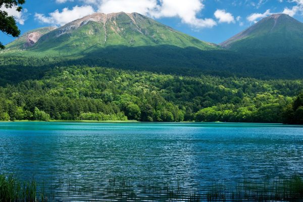
[[274,14],[220,44],[240,53],[262,56],[303,53],[303,23],[286,14]]

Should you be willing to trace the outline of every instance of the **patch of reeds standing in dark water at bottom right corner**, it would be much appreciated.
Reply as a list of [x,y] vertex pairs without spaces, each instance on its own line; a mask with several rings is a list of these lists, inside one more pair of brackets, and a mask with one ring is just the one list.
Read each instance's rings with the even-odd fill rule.
[[293,176],[287,179],[249,181],[244,179],[235,190],[215,185],[206,194],[208,201],[302,201],[303,179]]

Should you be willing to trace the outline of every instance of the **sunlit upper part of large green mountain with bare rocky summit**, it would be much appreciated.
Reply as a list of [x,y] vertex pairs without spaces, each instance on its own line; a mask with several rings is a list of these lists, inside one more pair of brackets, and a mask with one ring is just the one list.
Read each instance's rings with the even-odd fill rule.
[[41,28],[7,45],[6,53],[23,55],[83,55],[111,46],[195,47],[217,49],[138,13],[95,13],[59,28]]

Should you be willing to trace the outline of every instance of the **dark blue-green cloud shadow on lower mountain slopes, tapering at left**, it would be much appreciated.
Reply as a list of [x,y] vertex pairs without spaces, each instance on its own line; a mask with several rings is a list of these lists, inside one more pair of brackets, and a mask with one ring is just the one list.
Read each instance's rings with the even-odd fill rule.
[[88,51],[86,55],[73,63],[188,76],[211,74],[262,79],[303,77],[303,60],[290,56],[251,56],[225,50],[201,51],[195,47],[180,48],[172,45],[110,46]]

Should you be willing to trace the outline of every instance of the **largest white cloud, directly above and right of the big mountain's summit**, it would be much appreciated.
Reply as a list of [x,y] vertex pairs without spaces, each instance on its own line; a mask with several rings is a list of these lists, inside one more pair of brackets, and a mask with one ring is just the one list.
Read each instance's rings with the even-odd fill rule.
[[[96,3],[98,0],[82,0]],[[182,23],[196,28],[213,27],[217,23],[211,19],[197,18],[197,14],[204,9],[202,0],[102,0],[98,5],[98,12],[117,13],[137,12],[154,18],[177,17]]]

